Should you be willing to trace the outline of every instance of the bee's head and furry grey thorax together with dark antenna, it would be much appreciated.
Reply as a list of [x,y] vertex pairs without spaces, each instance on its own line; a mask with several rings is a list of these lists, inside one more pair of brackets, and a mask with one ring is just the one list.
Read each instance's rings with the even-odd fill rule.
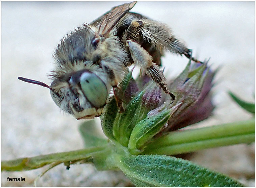
[[98,28],[84,25],[63,38],[54,52],[55,69],[50,86],[35,80],[22,81],[50,89],[53,101],[76,119],[99,117],[111,86],[123,78],[126,53],[110,33],[97,34]]

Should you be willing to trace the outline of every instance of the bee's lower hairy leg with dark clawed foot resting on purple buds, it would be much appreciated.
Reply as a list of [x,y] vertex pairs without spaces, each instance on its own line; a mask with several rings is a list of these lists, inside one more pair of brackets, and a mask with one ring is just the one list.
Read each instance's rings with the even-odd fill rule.
[[159,68],[159,66],[153,63],[152,57],[150,56],[150,54],[144,48],[142,48],[138,43],[134,41],[127,40],[126,46],[128,47],[131,53],[131,57],[134,63],[136,63],[136,65],[139,65],[141,67],[140,74],[143,75],[146,73],[148,76],[150,76],[152,80],[156,84],[158,84],[165,93],[169,94],[172,97],[172,102],[173,102],[175,99],[175,96],[168,90],[166,85],[166,79],[161,69]]

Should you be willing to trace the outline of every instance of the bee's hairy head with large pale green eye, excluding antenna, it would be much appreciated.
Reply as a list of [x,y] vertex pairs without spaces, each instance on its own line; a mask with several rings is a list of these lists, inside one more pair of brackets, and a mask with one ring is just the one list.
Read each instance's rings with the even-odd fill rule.
[[[100,75],[100,74],[98,74]],[[65,81],[55,79],[50,88],[53,101],[76,119],[93,119],[101,115],[110,85],[104,75],[86,69],[68,76]]]

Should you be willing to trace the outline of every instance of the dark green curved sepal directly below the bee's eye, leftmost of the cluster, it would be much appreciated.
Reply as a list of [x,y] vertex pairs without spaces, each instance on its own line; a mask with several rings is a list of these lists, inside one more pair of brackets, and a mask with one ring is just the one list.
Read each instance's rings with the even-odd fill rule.
[[111,140],[116,140],[113,136],[113,124],[118,113],[116,99],[112,96],[109,103],[103,108],[103,113],[100,117],[101,127],[104,134]]

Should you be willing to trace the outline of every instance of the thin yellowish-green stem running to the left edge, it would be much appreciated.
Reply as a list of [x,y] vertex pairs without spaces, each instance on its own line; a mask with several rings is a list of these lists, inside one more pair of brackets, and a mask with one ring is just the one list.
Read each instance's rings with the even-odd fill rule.
[[62,163],[71,162],[75,163],[83,160],[83,162],[91,161],[92,154],[104,150],[106,147],[94,147],[82,150],[54,153],[49,155],[40,155],[31,158],[19,158],[15,160],[1,161],[1,171],[21,171],[21,170],[31,170],[35,168],[40,168],[42,166],[51,163]]

